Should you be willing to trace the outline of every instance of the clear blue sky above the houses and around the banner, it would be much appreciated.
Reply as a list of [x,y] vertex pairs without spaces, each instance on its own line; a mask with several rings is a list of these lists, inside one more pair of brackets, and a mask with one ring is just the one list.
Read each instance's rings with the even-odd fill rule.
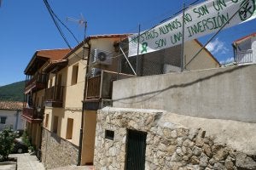
[[[194,0],[185,0],[189,4]],[[152,0],[49,0],[55,14],[73,31],[79,41],[83,39],[83,28],[67,21],[67,17],[79,19],[80,14],[88,21],[87,36],[137,32],[140,23],[146,30],[164,20],[178,9],[183,1]],[[0,86],[25,79],[23,73],[32,55],[39,49],[67,48],[43,0],[3,0],[0,8]],[[233,56],[231,42],[256,31],[256,21],[222,31],[208,45],[219,61]],[[65,32],[67,33],[67,32]],[[72,46],[77,43],[71,36]],[[207,42],[207,37],[200,38]]]

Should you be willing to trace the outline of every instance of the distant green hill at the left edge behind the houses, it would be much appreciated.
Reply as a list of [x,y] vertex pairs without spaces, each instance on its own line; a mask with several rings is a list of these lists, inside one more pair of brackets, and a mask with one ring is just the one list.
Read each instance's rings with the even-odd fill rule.
[[23,101],[25,81],[0,87],[0,100]]

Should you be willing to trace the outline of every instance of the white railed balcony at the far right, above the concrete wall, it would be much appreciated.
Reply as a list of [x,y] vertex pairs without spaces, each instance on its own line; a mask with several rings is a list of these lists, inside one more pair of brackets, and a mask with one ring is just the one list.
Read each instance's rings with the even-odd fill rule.
[[253,50],[248,49],[245,51],[236,52],[235,61],[238,65],[253,63]]

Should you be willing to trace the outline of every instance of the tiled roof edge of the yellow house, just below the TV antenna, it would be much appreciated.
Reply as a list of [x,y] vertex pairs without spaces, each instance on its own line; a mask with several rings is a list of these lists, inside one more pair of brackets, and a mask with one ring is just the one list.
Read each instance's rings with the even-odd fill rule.
[[131,34],[103,34],[103,35],[96,35],[96,36],[90,36],[86,37],[84,41],[79,42],[79,44],[73,48],[72,51],[70,51],[63,59],[66,59],[69,55],[73,54],[74,51],[78,50],[79,48],[83,47],[85,42],[89,42],[91,39],[100,39],[100,38],[114,38],[114,37],[128,37]]

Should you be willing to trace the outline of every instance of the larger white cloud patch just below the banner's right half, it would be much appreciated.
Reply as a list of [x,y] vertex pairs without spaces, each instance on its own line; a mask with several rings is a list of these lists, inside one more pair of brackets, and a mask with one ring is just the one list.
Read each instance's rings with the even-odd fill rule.
[[230,50],[225,47],[224,42],[216,38],[214,41],[209,42],[206,47],[212,54],[227,54]]

